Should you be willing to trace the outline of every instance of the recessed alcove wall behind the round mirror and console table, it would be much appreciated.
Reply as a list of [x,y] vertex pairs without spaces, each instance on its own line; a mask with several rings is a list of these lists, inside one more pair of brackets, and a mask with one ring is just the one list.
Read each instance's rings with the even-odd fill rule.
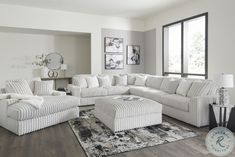
[[90,37],[0,32],[0,86],[5,80],[40,76],[35,55],[58,52],[68,64],[67,76],[90,73]]

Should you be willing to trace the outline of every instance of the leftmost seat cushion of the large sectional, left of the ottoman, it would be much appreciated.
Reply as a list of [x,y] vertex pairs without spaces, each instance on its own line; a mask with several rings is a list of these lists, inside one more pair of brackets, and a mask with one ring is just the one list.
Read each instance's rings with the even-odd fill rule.
[[108,95],[108,91],[106,88],[98,87],[98,88],[82,88],[81,89],[81,97],[97,97],[97,96],[106,96]]

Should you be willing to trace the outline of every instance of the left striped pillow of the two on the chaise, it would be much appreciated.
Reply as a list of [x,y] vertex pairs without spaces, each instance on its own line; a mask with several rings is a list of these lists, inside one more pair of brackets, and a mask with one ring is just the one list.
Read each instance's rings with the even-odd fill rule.
[[26,80],[10,80],[6,82],[7,93],[17,93],[23,95],[33,95]]

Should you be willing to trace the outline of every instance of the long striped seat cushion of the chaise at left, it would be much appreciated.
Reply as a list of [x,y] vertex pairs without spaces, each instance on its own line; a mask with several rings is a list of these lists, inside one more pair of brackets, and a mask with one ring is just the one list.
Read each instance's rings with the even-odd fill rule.
[[79,99],[73,96],[45,96],[43,98],[44,103],[40,109],[19,102],[8,107],[7,115],[12,119],[22,121],[58,113],[79,105]]

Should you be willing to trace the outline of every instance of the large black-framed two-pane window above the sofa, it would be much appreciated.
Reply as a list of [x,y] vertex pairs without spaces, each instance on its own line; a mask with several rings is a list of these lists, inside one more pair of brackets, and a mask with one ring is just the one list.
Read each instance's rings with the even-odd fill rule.
[[208,76],[208,13],[163,26],[163,75]]

